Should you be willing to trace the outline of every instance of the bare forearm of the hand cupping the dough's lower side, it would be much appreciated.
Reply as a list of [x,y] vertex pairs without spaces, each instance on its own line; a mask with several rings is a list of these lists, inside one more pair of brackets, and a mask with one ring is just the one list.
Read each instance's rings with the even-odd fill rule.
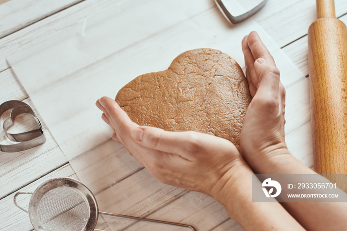
[[252,202],[252,174],[248,166],[241,166],[229,173],[228,181],[214,196],[228,215],[245,230],[301,230],[300,224],[278,202]]

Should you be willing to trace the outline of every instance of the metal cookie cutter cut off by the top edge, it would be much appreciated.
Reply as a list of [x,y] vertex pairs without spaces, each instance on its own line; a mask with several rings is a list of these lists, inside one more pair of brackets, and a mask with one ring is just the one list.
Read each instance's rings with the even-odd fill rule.
[[[227,0],[223,0],[224,2],[226,2]],[[252,8],[249,11],[246,11],[240,15],[234,16],[232,15],[229,10],[227,9],[227,7],[225,6],[225,4],[223,3],[222,0],[215,0],[218,8],[222,11],[222,13],[224,14],[224,16],[232,23],[232,24],[237,24],[240,23],[244,20],[246,20],[247,18],[249,18],[250,16],[252,16],[253,14],[255,14],[256,12],[258,12],[261,8],[263,8],[263,6],[265,5],[265,3],[267,2],[267,0],[263,0],[262,2],[260,2],[257,6],[255,6],[254,8]]]

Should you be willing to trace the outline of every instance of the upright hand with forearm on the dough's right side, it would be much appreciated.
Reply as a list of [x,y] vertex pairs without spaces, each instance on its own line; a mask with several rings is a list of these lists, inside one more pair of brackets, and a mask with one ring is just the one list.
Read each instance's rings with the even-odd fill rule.
[[[256,32],[244,37],[242,50],[253,97],[241,132],[243,157],[258,174],[315,174],[287,149],[285,90],[273,57]],[[292,202],[282,206],[307,230],[341,230],[347,226],[344,203]]]

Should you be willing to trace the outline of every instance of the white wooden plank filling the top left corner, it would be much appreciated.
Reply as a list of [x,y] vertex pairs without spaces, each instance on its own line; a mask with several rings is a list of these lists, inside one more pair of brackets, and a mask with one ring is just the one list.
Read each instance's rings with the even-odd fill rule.
[[[10,0],[0,2],[0,38],[82,0]],[[5,4],[3,4],[5,3]]]

